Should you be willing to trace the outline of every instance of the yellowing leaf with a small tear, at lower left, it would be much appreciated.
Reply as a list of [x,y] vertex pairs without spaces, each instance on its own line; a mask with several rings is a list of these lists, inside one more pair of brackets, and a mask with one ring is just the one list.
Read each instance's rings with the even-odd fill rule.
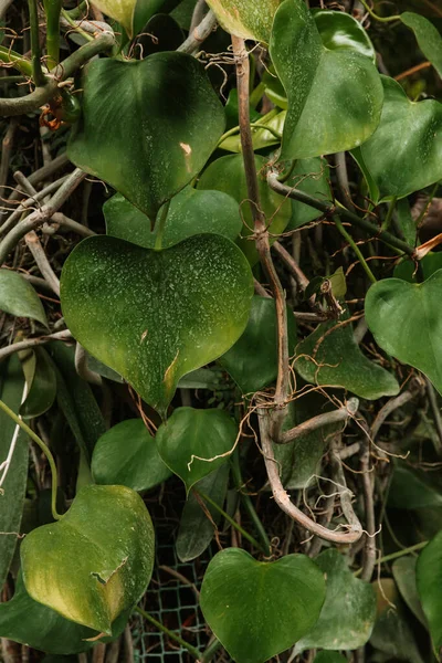
[[59,522],[38,527],[22,541],[24,586],[35,601],[110,635],[112,622],[146,591],[154,541],[137,493],[86,486]]

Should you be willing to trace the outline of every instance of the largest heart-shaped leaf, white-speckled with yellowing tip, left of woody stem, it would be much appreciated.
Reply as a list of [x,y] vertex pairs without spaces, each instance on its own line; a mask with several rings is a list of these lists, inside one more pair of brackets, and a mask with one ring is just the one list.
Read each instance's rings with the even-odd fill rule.
[[71,253],[61,280],[72,334],[162,417],[179,379],[241,336],[252,296],[246,260],[214,234],[160,252],[87,238]]

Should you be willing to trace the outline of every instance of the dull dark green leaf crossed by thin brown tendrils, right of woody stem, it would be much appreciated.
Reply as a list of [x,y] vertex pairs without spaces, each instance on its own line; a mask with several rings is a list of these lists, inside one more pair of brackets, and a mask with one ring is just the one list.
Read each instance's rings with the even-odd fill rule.
[[399,393],[394,376],[362,355],[351,325],[341,324],[346,318],[318,325],[299,343],[295,370],[307,382],[341,387],[368,400]]

